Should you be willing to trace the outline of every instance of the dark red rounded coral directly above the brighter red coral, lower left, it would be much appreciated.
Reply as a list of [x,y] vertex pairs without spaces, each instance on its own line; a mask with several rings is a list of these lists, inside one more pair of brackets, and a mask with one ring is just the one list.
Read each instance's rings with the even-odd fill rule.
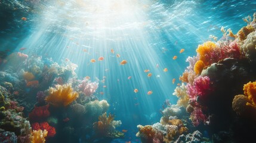
[[31,113],[29,113],[29,120],[30,121],[39,121],[43,120],[50,116],[50,111],[48,110],[49,104],[36,107],[33,109]]

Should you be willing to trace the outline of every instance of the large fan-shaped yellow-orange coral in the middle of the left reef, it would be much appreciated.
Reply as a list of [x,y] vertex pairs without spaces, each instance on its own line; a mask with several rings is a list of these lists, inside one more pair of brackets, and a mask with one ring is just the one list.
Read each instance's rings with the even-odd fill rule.
[[50,95],[45,101],[53,104],[55,107],[69,105],[78,98],[78,92],[73,92],[71,85],[56,85],[56,88],[49,89]]

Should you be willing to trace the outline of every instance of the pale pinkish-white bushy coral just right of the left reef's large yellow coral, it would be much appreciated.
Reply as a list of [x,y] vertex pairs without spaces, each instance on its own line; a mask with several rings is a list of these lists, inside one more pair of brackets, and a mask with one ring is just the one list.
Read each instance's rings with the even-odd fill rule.
[[98,83],[91,82],[89,79],[84,78],[84,80],[82,80],[81,84],[79,84],[78,87],[80,91],[84,92],[86,96],[90,97],[98,88]]

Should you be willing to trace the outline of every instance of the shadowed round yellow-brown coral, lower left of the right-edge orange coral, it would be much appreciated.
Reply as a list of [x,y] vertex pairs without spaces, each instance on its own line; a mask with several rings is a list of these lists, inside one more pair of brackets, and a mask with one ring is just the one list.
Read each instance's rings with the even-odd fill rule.
[[245,95],[236,95],[232,102],[232,108],[234,111],[236,111],[236,114],[242,115],[247,113],[246,111],[249,108],[246,103],[251,104],[251,101],[249,101],[248,97]]

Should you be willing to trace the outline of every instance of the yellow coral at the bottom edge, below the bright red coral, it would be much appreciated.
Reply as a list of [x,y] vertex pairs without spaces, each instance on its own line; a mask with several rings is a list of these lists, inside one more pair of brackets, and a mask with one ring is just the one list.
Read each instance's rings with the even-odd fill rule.
[[44,132],[41,129],[33,130],[33,132],[31,132],[31,135],[29,137],[30,142],[31,143],[44,143],[47,133],[48,133],[47,130],[44,130]]

